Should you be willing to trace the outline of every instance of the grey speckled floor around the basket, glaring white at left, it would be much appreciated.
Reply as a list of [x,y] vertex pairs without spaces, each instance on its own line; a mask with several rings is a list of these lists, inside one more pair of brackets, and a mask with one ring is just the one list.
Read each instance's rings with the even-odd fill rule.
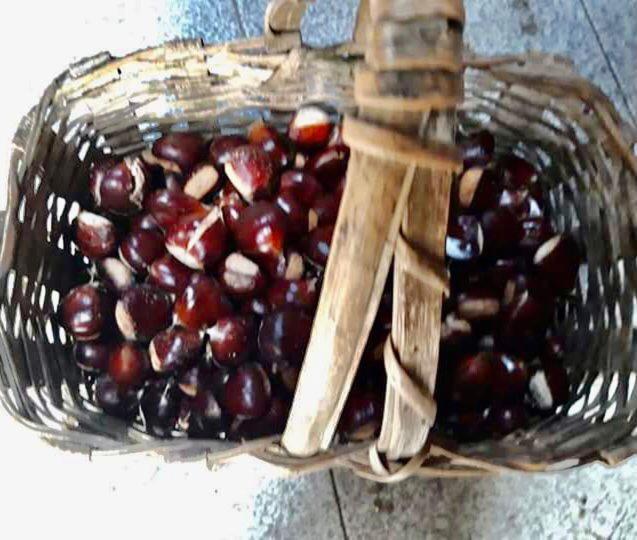
[[[175,37],[209,42],[261,31],[266,0],[21,0],[0,21],[0,140],[65,66]],[[356,0],[318,0],[304,22],[314,44],[346,39]],[[637,118],[637,0],[465,0],[480,52],[571,56],[624,117]],[[26,75],[28,73],[28,75]],[[10,79],[9,79],[10,77]],[[11,80],[11,84],[6,81]],[[10,87],[10,88],[9,88]],[[6,143],[0,168],[6,170]],[[2,161],[5,160],[5,161]],[[4,189],[0,190],[0,208]],[[68,538],[625,538],[637,537],[637,460],[540,476],[410,480],[382,487],[348,472],[281,479],[242,462],[208,472],[156,457],[53,450],[0,414],[4,531]],[[17,529],[20,527],[20,529]],[[13,537],[9,535],[8,537]]]

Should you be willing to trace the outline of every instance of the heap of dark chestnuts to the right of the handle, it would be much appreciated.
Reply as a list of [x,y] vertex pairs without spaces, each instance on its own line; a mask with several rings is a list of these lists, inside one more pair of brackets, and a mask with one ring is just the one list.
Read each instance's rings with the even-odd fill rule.
[[580,250],[553,229],[535,167],[494,147],[487,131],[461,142],[447,231],[438,427],[464,441],[524,428],[570,396],[554,319],[575,287]]

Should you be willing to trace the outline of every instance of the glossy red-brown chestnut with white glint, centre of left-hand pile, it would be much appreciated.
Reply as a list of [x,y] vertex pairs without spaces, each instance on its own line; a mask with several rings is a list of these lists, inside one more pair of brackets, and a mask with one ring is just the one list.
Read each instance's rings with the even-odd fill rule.
[[204,330],[219,319],[232,315],[232,304],[217,281],[193,274],[184,292],[175,302],[175,322],[191,330]]

